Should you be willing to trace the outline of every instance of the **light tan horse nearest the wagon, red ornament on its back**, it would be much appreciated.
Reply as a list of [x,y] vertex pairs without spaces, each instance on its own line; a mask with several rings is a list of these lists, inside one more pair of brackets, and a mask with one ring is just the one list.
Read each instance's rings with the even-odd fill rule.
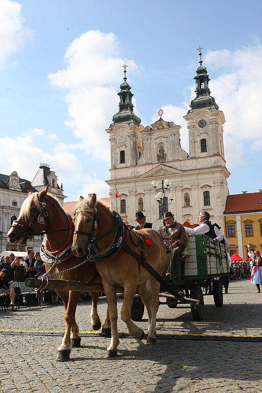
[[107,297],[112,332],[107,357],[116,357],[119,345],[117,287],[124,288],[121,319],[126,323],[129,334],[141,340],[144,332],[131,320],[131,306],[138,288],[148,314],[147,343],[154,344],[160,283],[140,264],[139,257],[146,253],[147,263],[162,274],[166,250],[161,236],[152,229],[128,230],[118,213],[111,212],[96,200],[96,194],[91,199],[80,199],[73,222],[72,252],[80,258],[87,252],[90,259],[93,257]]

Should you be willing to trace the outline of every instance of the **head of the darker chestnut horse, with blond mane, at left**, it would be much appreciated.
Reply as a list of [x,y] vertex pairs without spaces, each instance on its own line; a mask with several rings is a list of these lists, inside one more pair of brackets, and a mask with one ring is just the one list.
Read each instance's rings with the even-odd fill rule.
[[48,186],[39,193],[28,192],[28,197],[20,208],[18,219],[13,221],[7,233],[8,242],[25,245],[28,238],[47,230],[49,215],[45,202],[47,191]]

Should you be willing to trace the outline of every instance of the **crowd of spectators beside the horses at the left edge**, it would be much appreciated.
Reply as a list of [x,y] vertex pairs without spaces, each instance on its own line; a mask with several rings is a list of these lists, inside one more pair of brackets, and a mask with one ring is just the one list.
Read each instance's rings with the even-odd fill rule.
[[[15,257],[13,253],[3,256],[0,262],[0,296],[10,298],[11,310],[14,310],[15,295],[20,294],[20,282],[25,282],[28,277],[39,277],[46,272],[45,264],[40,253],[28,251],[27,257]],[[41,293],[40,299],[35,293],[19,296],[20,305],[57,304],[57,293],[54,290]]]

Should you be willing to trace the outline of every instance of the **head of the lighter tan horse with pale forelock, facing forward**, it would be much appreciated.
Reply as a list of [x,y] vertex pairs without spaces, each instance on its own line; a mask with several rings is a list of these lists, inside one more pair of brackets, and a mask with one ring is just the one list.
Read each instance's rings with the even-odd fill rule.
[[88,246],[97,229],[96,194],[93,194],[91,200],[79,198],[73,222],[75,232],[72,252],[75,256],[82,257],[88,253]]

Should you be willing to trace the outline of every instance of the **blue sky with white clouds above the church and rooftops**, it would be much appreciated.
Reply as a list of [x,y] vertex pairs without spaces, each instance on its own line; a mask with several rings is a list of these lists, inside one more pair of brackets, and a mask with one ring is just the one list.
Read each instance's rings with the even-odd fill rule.
[[231,194],[262,188],[262,3],[251,0],[0,0],[0,172],[33,180],[40,162],[65,201],[107,197],[105,129],[124,63],[144,126],[181,125],[194,97],[199,45],[224,112]]

